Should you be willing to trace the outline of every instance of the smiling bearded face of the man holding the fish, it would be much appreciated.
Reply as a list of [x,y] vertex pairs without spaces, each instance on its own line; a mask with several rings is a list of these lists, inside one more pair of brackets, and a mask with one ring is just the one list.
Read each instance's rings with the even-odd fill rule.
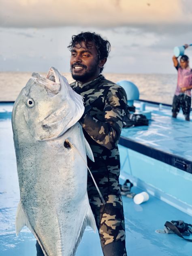
[[87,48],[84,42],[75,45],[71,51],[70,68],[73,79],[87,83],[100,74],[101,61],[95,45],[90,42]]

